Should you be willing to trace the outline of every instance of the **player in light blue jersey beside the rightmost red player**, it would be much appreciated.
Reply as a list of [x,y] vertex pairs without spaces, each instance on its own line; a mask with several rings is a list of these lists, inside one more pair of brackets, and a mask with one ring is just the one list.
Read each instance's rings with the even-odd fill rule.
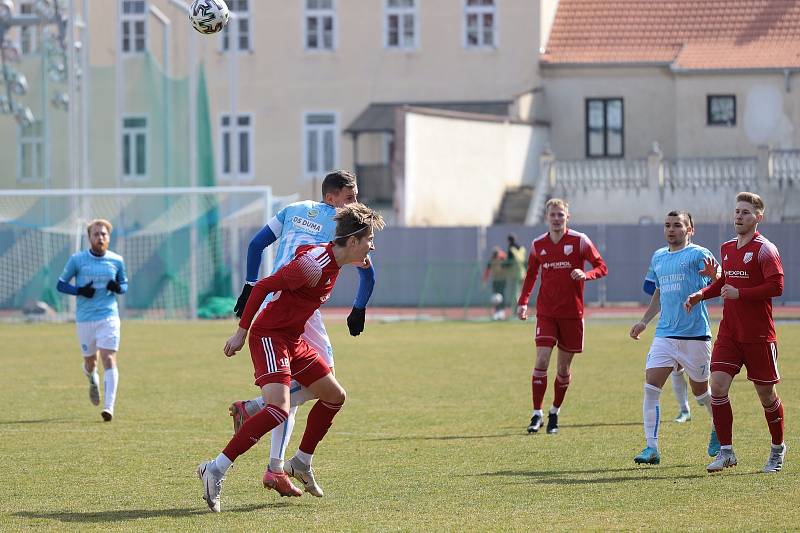
[[[716,278],[714,256],[691,243],[694,234],[692,215],[686,211],[670,211],[664,221],[667,246],[656,250],[647,272],[647,280],[655,285],[650,305],[642,320],[631,327],[630,336],[639,340],[647,324],[660,313],[655,338],[645,365],[644,433],[645,449],[634,458],[636,463],[658,464],[658,431],[661,423],[661,388],[670,373],[683,367],[697,403],[711,416],[711,393],[708,378],[711,365],[711,327],[708,310],[699,306],[686,313],[683,302],[689,294]],[[708,454],[719,452],[719,440],[713,429]]]

